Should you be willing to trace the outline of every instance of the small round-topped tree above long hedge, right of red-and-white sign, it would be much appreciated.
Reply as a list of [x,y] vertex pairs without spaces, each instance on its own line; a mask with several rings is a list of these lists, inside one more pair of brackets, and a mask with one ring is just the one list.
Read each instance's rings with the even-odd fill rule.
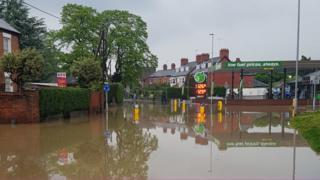
[[81,87],[95,86],[102,78],[100,64],[92,58],[75,61],[71,71],[78,78],[78,83]]

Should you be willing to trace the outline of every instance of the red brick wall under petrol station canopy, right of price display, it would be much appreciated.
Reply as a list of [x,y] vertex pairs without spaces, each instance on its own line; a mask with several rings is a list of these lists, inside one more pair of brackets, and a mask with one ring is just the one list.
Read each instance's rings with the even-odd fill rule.
[[[229,87],[232,86],[232,73],[231,72],[215,72],[210,73],[209,79],[208,79],[208,85],[210,86],[210,80],[214,81],[215,86],[224,86],[224,84],[227,82]],[[254,76],[244,76],[244,87],[250,88],[253,87],[253,81]],[[233,87],[239,88],[240,86],[240,73],[235,72],[234,73],[234,81],[233,81]]]

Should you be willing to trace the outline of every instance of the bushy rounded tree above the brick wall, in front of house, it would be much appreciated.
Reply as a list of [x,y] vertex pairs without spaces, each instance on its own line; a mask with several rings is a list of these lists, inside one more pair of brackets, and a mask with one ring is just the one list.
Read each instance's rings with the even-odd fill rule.
[[6,54],[0,60],[0,69],[10,73],[13,82],[21,87],[25,82],[38,81],[43,73],[44,60],[35,49],[24,49],[18,54]]

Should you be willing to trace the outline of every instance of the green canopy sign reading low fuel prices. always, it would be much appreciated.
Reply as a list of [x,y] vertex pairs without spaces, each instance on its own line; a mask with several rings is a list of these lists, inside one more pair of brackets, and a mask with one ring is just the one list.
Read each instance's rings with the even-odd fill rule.
[[273,69],[281,67],[282,62],[280,61],[226,62],[223,64],[224,69]]

